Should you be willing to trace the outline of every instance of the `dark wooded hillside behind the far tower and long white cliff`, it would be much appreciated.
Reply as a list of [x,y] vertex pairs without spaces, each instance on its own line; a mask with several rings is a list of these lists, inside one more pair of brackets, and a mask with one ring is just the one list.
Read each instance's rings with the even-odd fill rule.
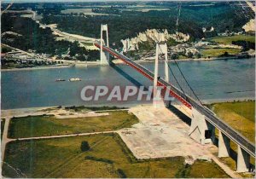
[[[166,3],[164,7],[169,10],[153,9],[148,12],[126,11],[123,6],[121,8],[119,6],[101,7],[92,9],[92,11],[109,15],[86,15],[85,18],[74,14],[44,14],[43,22],[45,24],[57,23],[61,31],[91,38],[99,38],[101,24],[108,24],[110,43],[115,43],[118,49],[121,39],[135,37],[138,32],[144,32],[147,29],[167,29],[169,33],[175,31],[188,33],[190,40],[194,41],[198,38],[206,38],[202,27],[213,26],[215,31],[210,34],[211,36],[216,36],[218,32],[226,30],[239,32],[242,30],[241,26],[254,17],[250,9],[247,9],[245,15],[241,7],[236,6],[234,10],[234,4],[228,3],[213,3],[209,6],[191,6],[188,3],[181,3],[180,15],[178,15],[177,5]],[[162,4],[161,8],[163,8]],[[207,38],[211,37],[207,35]]]

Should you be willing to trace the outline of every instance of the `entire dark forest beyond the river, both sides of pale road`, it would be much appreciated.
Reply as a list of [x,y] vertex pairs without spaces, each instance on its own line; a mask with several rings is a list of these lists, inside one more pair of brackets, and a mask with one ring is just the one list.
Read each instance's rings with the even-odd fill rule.
[[[107,6],[108,5],[108,6]],[[3,4],[2,9],[6,6]],[[236,2],[148,2],[140,4],[146,11],[137,9],[137,3],[15,3],[12,9],[27,9],[37,11],[43,15],[41,23],[57,24],[63,32],[83,35],[90,38],[100,38],[101,24],[108,24],[109,41],[114,49],[121,49],[121,39],[133,38],[139,32],[147,29],[167,29],[169,33],[176,31],[190,35],[190,42],[201,38],[217,36],[218,32],[240,32],[242,26],[252,18],[253,12]],[[64,9],[91,9],[91,14],[62,14]],[[154,7],[154,8],[152,8]],[[155,8],[165,10],[155,10]],[[127,10],[130,9],[130,10]],[[132,9],[132,10],[131,10]],[[136,10],[137,9],[137,10]],[[87,51],[79,47],[78,43],[56,41],[49,28],[39,28],[31,19],[21,18],[18,14],[2,15],[2,32],[17,32],[22,36],[6,35],[3,43],[19,49],[34,49],[38,53],[61,55],[70,48],[71,55],[77,54],[84,60],[89,55],[90,60],[96,60],[96,51]],[[203,27],[214,31],[205,33]],[[250,44],[245,44],[250,45]]]

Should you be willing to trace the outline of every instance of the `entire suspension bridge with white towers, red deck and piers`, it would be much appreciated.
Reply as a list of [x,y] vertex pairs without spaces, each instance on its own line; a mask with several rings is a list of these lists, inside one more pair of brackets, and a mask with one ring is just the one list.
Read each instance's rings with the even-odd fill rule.
[[[95,46],[101,49],[101,64],[109,64],[109,55],[123,61],[125,64],[131,66],[135,72],[141,73],[144,77],[154,81],[154,88],[162,87],[161,90],[168,90],[170,95],[180,101],[183,106],[187,107],[192,112],[191,125],[189,130],[189,136],[195,139],[195,141],[206,144],[215,140],[215,128],[218,129],[218,157],[230,156],[230,140],[237,144],[237,171],[247,171],[250,165],[250,156],[255,158],[255,146],[253,142],[248,141],[246,137],[241,133],[234,130],[229,124],[226,124],[221,118],[218,118],[207,107],[201,104],[199,98],[195,95],[189,95],[184,92],[183,88],[177,81],[177,86],[169,82],[168,72],[171,71],[167,60],[167,47],[166,43],[156,43],[156,54],[154,63],[154,72],[151,72],[145,66],[138,64],[136,61],[132,61],[130,58],[119,53],[118,51],[109,47],[108,44],[108,26],[102,25],[101,41],[95,42]],[[104,43],[103,32],[106,32],[107,43]],[[158,59],[159,55],[165,56],[165,79],[158,76]],[[171,71],[172,72],[172,71]],[[173,77],[175,74],[172,72]],[[185,77],[183,76],[185,79]],[[177,78],[175,78],[177,80]],[[186,81],[186,79],[185,79]],[[187,81],[186,81],[187,82]],[[188,82],[187,82],[188,83]],[[155,93],[155,92],[154,92]],[[153,101],[154,102],[154,101]]]

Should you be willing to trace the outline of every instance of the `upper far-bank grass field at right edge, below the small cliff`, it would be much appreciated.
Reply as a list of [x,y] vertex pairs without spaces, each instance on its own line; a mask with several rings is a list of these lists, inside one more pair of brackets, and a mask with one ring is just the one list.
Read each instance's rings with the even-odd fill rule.
[[236,36],[229,36],[229,37],[217,37],[211,38],[212,41],[216,43],[223,43],[223,44],[232,44],[232,41],[239,41],[244,40],[251,43],[255,43],[255,37],[250,35],[236,35]]

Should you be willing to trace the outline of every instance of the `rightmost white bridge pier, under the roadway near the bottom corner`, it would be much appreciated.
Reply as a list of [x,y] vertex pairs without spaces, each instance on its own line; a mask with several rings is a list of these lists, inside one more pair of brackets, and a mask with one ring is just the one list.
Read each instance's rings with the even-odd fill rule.
[[249,170],[249,167],[250,167],[250,155],[240,146],[237,146],[236,171],[247,172]]

